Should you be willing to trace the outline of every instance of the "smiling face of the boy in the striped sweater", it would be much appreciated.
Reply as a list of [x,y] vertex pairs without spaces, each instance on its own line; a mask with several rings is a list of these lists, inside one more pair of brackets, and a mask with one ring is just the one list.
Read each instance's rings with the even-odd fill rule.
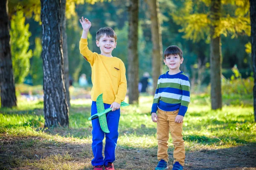
[[180,56],[178,54],[171,54],[169,56],[166,56],[163,61],[165,65],[168,66],[170,71],[177,71],[180,70],[180,64],[182,64],[183,58],[180,59]]

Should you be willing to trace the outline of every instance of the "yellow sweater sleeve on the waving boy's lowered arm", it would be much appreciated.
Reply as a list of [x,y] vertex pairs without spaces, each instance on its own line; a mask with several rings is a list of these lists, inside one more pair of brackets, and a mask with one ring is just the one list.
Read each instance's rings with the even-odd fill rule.
[[124,101],[126,92],[127,92],[127,81],[125,76],[125,64],[121,62],[120,63],[120,82],[119,82],[115,102],[120,104],[122,101]]

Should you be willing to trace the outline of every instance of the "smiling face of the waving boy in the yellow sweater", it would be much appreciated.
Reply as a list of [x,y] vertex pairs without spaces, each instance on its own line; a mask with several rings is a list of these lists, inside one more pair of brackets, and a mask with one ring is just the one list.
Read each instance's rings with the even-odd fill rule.
[[99,41],[96,40],[96,45],[99,47],[101,54],[107,57],[111,57],[113,49],[116,48],[115,39],[107,37],[106,34],[100,37]]

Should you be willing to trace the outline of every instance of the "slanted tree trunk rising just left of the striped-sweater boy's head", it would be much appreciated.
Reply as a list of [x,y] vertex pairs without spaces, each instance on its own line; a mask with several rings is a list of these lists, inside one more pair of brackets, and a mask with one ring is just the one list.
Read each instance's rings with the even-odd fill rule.
[[157,88],[157,80],[162,71],[163,65],[163,44],[162,31],[159,20],[159,2],[158,0],[147,0],[150,19],[151,19],[151,40],[153,44],[152,50],[152,77],[154,82],[154,90]]

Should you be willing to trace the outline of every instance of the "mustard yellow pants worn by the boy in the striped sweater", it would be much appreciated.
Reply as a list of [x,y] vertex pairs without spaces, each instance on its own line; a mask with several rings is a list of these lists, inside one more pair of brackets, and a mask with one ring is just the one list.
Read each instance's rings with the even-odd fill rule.
[[172,136],[172,144],[174,145],[174,163],[178,161],[182,166],[184,166],[185,147],[182,135],[183,123],[175,123],[175,117],[177,116],[178,112],[179,110],[166,112],[157,109],[157,159],[159,161],[161,159],[167,162],[169,161],[167,150],[170,131]]

